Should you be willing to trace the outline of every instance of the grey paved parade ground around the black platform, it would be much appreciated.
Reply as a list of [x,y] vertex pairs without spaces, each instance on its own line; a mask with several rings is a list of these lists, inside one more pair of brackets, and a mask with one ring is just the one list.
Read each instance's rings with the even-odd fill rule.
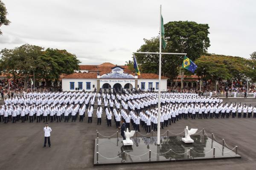
[[[247,103],[256,105],[253,98],[229,98],[224,102]],[[94,111],[95,112],[95,111]],[[102,118],[104,118],[103,113]],[[112,120],[113,122],[113,120]],[[112,123],[113,124],[113,123]],[[52,128],[52,147],[43,148],[44,123],[16,124],[0,123],[0,170],[79,170],[79,169],[190,169],[190,170],[254,170],[256,167],[256,118],[224,118],[181,120],[165,127],[172,133],[180,133],[185,126],[189,128],[204,128],[207,133],[214,133],[217,140],[225,139],[231,148],[238,146],[241,159],[223,159],[209,161],[182,161],[147,164],[120,164],[93,166],[94,139],[96,130],[104,135],[116,132],[115,126],[107,127],[103,119],[102,125],[97,125],[95,114],[93,123],[84,122],[49,123]],[[141,133],[145,134],[143,130]],[[109,148],[111,149],[111,148]]]

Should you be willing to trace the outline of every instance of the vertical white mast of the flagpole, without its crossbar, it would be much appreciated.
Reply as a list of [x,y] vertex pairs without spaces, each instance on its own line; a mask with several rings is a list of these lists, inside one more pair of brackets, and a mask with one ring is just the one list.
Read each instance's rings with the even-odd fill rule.
[[161,52],[162,52],[162,5],[160,5],[160,36],[159,36],[159,72],[158,72],[158,112],[157,112],[157,144],[160,145],[160,116],[161,116]]

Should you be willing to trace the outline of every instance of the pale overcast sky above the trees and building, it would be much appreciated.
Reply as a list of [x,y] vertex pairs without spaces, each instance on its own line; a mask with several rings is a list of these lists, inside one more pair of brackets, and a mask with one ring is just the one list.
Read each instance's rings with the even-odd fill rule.
[[[255,0],[2,0],[9,26],[0,49],[29,43],[66,49],[83,65],[124,65],[163,22],[207,23],[209,53],[250,58],[256,51]],[[189,57],[189,56],[188,56]]]

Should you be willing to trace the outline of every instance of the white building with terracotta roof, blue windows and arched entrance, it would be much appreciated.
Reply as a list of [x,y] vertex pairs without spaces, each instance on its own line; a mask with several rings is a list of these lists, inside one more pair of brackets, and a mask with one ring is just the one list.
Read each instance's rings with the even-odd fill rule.
[[[101,66],[103,65],[103,66]],[[105,63],[97,66],[88,72],[74,72],[62,78],[63,91],[93,91],[95,88],[108,89],[143,89],[147,91],[152,89],[158,91],[158,75],[151,73],[141,73],[135,75],[129,69],[122,66],[112,67],[111,63],[106,66]],[[167,91],[167,79],[161,78],[161,91]]]

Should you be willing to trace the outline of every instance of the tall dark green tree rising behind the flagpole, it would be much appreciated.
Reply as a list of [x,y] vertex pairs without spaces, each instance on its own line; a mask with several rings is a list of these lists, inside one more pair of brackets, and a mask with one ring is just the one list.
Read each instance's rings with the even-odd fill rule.
[[[198,24],[189,21],[173,21],[164,24],[166,49],[162,52],[187,53],[188,58],[194,61],[207,53],[210,46],[208,24]],[[138,52],[159,51],[159,37],[144,39],[145,43]],[[162,75],[174,79],[183,61],[181,55],[162,55]],[[136,54],[137,63],[141,64],[142,71],[158,74],[159,55]]]

